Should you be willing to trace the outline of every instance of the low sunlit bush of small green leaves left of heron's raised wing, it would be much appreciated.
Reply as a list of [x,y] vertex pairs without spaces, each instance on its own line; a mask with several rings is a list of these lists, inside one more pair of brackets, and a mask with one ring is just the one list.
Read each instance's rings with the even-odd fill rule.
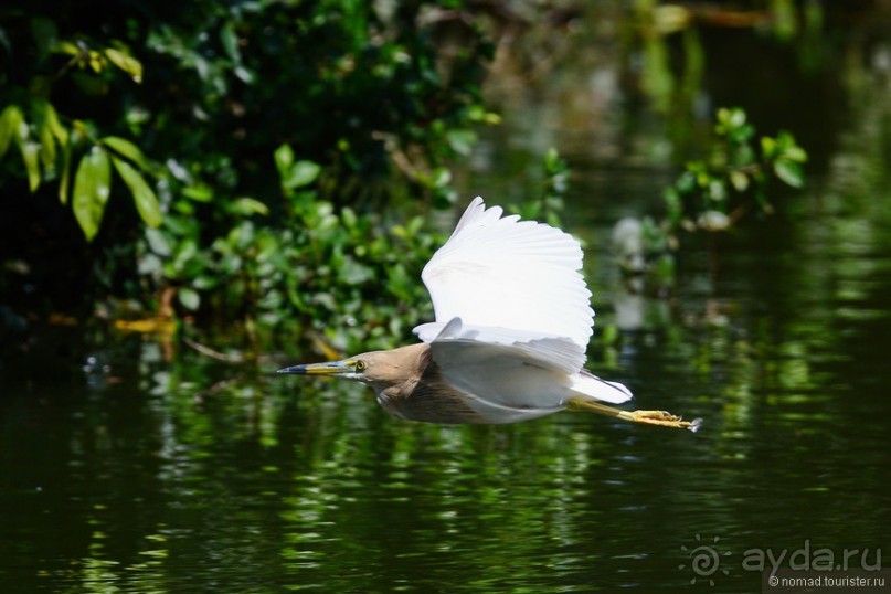
[[312,188],[316,163],[287,145],[275,158],[285,224],[269,225],[266,206],[242,198],[230,203],[229,233],[201,247],[194,220],[177,219],[149,231],[141,273],[176,287],[183,315],[244,320],[255,340],[317,337],[346,352],[404,339],[429,315],[418,278],[441,238],[421,218],[383,232],[380,214],[338,211]]

